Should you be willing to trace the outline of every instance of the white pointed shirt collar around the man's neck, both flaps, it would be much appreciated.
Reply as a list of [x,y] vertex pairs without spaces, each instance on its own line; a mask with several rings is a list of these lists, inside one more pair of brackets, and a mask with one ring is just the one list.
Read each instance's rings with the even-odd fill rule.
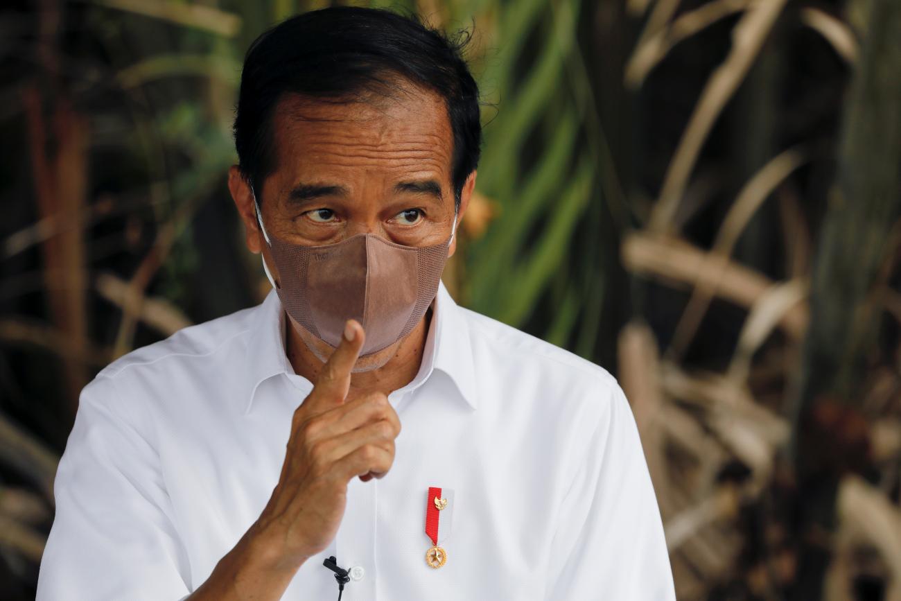
[[[248,340],[248,387],[245,390],[244,414],[249,414],[259,385],[278,374],[294,374],[285,351],[285,312],[275,290],[271,290],[251,319]],[[444,282],[439,282],[438,294],[432,301],[432,322],[425,341],[423,362],[407,387],[418,387],[432,374],[432,369],[446,373],[460,394],[473,409],[478,406],[475,368],[469,341],[469,324],[460,306],[451,297]]]

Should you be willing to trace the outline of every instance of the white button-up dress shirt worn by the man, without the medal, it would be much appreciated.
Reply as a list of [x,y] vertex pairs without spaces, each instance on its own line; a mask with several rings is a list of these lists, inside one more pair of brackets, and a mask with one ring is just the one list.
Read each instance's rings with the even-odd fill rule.
[[[605,369],[457,305],[441,284],[384,478],[352,478],[329,548],[283,599],[675,598],[629,403]],[[259,517],[313,388],[275,292],[132,351],[81,394],[38,601],[179,601]],[[446,563],[427,564],[429,487]]]

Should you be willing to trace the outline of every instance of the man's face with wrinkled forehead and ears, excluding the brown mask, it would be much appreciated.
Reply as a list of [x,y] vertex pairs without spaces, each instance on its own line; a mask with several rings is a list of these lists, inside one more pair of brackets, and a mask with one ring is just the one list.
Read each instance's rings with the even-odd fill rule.
[[[451,236],[453,134],[441,96],[414,87],[350,104],[286,96],[272,132],[277,167],[257,191],[270,235],[305,246],[366,232],[406,246],[432,246]],[[460,216],[473,183],[474,174],[461,195]],[[252,199],[250,207],[236,201],[248,247],[263,252],[278,282]],[[449,256],[456,244],[455,237]],[[316,357],[327,359],[331,347],[292,323]],[[359,360],[355,371],[381,367],[400,343]]]

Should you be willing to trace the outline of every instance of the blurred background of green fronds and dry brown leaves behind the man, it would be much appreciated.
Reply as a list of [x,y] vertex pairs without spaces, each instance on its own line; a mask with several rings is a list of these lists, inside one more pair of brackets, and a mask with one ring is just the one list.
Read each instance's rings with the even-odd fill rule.
[[[86,382],[267,293],[226,187],[241,61],[328,4],[0,9],[0,599],[33,599]],[[901,2],[385,6],[473,32],[444,280],[619,379],[678,598],[901,600]]]

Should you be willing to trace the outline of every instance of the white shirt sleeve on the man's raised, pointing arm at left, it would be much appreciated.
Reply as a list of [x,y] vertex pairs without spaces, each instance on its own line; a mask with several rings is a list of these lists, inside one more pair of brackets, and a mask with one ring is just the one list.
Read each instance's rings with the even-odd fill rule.
[[54,481],[37,601],[178,601],[190,593],[159,456],[137,422],[122,417],[124,400],[112,378],[82,390]]

